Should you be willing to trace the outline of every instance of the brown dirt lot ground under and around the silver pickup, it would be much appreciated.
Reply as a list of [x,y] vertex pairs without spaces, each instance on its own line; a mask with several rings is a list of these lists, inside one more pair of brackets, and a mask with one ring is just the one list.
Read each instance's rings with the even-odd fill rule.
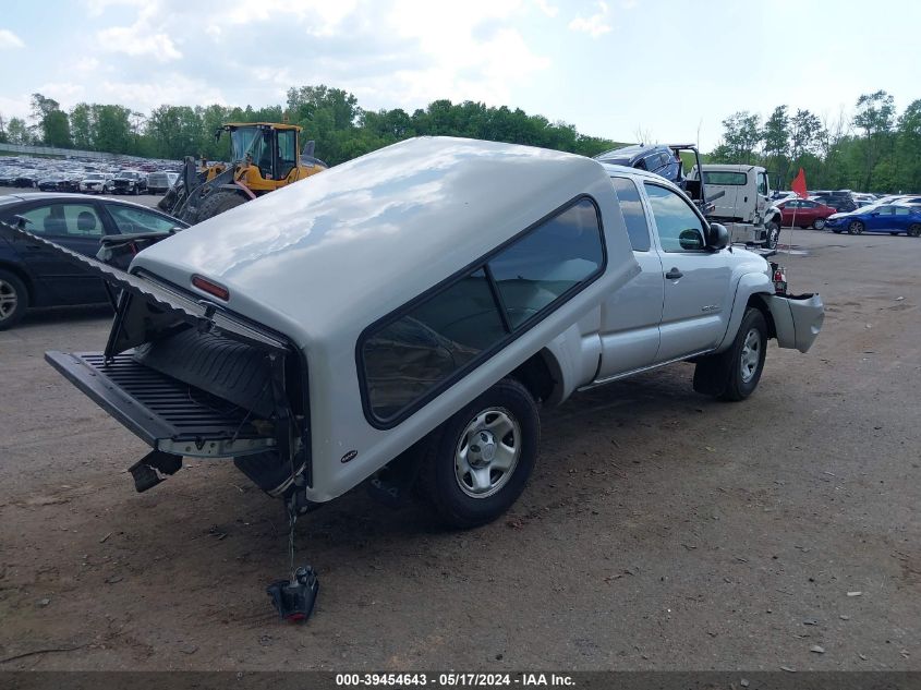
[[28,316],[0,334],[0,657],[71,651],[3,668],[921,669],[921,241],[793,242],[791,285],[826,301],[812,352],[772,348],[743,403],[676,365],[546,412],[529,488],[480,530],[325,507],[298,528],[301,627],[264,592],[281,506],[220,461],[135,494],[143,444],[43,361],[101,349],[107,314]]

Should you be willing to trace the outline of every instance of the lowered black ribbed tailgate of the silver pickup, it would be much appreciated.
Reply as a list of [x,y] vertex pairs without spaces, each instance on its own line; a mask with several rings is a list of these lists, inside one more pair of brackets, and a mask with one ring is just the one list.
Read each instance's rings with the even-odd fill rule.
[[136,362],[131,352],[106,362],[101,352],[47,352],[45,359],[94,402],[152,447],[221,457],[274,446],[252,413]]

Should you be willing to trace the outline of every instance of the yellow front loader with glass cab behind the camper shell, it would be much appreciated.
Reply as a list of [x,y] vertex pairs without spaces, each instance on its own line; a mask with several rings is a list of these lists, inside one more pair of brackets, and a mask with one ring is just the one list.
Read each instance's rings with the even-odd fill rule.
[[299,154],[301,131],[295,124],[275,122],[231,122],[218,128],[215,140],[230,134],[231,162],[198,168],[187,156],[182,177],[159,208],[196,223],[326,170],[327,165],[313,155],[313,142]]

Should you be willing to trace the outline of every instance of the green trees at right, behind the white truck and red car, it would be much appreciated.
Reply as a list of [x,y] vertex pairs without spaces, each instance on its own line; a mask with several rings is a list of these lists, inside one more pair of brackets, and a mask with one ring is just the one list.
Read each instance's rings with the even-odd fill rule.
[[810,189],[921,191],[921,99],[899,114],[885,90],[863,94],[851,116],[820,118],[777,106],[762,123],[747,110],[723,120],[711,162],[763,165],[786,189],[800,168]]

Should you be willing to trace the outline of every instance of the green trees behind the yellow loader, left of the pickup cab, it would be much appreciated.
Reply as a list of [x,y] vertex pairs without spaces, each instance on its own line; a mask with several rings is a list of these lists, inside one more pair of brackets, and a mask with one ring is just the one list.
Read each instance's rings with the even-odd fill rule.
[[215,140],[225,122],[291,122],[316,142],[316,155],[337,165],[400,140],[422,135],[469,136],[530,144],[593,156],[617,142],[580,134],[575,126],[528,114],[520,108],[435,100],[412,114],[364,110],[354,95],[325,85],[292,87],[284,107],[169,106],[148,114],[119,105],[81,102],[69,112],[53,98],[33,94],[28,119],[0,116],[0,142],[182,159],[223,160],[228,137]]

